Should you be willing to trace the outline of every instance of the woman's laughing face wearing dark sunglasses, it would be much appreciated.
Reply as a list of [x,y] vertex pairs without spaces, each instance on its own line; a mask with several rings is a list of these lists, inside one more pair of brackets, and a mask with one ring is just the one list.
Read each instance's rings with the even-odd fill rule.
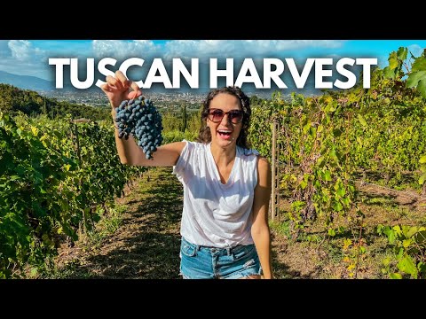
[[235,145],[242,127],[240,100],[231,94],[219,93],[210,101],[207,125],[211,143],[220,147]]

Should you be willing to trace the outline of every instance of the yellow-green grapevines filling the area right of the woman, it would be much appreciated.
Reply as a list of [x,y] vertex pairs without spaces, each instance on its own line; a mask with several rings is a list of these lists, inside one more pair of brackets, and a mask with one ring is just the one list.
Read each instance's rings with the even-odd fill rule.
[[[276,94],[253,112],[252,144],[271,160],[273,125],[264,123],[279,123],[281,151],[273,160],[288,202],[281,217],[289,236],[307,236],[319,246],[339,237],[350,277],[357,277],[368,253],[363,204],[369,194],[360,186],[412,190],[411,204],[426,197],[426,57],[407,64],[407,54],[404,48],[392,52],[390,66],[372,73],[370,89],[294,94],[289,103]],[[421,209],[425,200],[417,204]],[[425,222],[369,225],[394,249],[383,261],[387,276],[426,276]],[[323,226],[312,237],[314,223]]]

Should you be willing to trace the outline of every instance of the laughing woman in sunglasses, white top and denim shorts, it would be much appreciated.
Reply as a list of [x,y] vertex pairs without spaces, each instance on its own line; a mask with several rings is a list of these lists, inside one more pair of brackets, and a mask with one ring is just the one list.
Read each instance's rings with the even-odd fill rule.
[[[114,107],[142,94],[122,72],[101,89]],[[129,90],[133,89],[129,93]],[[203,103],[199,142],[160,146],[146,159],[132,136],[115,143],[122,164],[173,167],[184,185],[180,275],[184,278],[272,278],[268,207],[271,167],[248,149],[248,97],[217,89]]]

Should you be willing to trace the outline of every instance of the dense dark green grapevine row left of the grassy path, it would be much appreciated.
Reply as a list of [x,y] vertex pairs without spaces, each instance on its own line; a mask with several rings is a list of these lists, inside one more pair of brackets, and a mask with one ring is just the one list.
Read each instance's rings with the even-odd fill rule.
[[42,267],[144,171],[120,163],[111,124],[0,113],[0,140],[0,277]]

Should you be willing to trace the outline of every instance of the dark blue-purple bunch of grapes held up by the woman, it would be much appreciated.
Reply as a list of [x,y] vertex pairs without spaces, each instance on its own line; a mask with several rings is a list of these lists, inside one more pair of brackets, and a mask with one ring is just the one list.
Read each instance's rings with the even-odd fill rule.
[[162,144],[162,114],[153,102],[143,96],[124,100],[115,108],[115,113],[118,137],[128,139],[132,134],[144,150],[146,159],[152,159],[152,154]]

